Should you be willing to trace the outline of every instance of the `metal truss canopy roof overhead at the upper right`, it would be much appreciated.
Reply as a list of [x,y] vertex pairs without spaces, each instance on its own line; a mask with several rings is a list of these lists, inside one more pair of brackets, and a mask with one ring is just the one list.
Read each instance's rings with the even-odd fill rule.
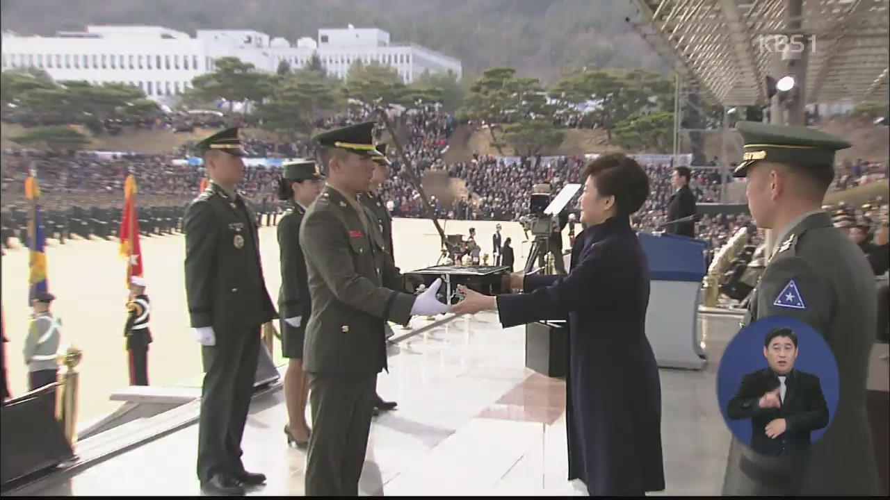
[[796,29],[788,26],[788,0],[634,1],[651,46],[673,52],[721,104],[766,103],[765,76],[777,47],[772,36],[789,33],[812,41],[808,103],[887,101],[890,0],[804,0]]

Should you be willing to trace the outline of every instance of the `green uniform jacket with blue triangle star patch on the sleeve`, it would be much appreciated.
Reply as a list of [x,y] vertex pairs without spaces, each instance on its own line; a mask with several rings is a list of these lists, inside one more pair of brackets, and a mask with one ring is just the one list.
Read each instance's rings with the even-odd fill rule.
[[862,250],[823,212],[793,223],[780,239],[743,325],[786,316],[821,333],[837,360],[837,409],[821,439],[801,458],[756,455],[733,438],[724,495],[878,495],[866,413],[877,314],[871,268]]

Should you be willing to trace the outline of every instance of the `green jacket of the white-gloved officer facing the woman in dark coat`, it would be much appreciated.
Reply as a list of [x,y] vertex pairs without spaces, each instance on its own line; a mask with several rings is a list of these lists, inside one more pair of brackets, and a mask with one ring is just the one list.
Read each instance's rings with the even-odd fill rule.
[[303,367],[328,375],[376,375],[386,369],[384,322],[407,324],[415,297],[385,253],[374,217],[368,227],[344,195],[326,186],[300,229],[312,316]]

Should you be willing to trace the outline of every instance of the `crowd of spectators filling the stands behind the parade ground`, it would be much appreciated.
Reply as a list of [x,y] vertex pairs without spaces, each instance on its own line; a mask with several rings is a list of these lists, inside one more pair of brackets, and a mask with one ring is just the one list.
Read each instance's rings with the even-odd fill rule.
[[[336,117],[320,120],[323,127],[343,126],[368,119],[367,111],[352,110]],[[431,199],[436,214],[447,219],[517,221],[527,213],[532,186],[550,182],[554,193],[568,182],[578,182],[578,174],[585,163],[584,157],[523,157],[519,161],[503,157],[473,154],[468,162],[443,163],[442,155],[448,149],[449,135],[457,124],[455,118],[438,109],[417,109],[393,117],[393,123],[401,135],[401,144],[419,178],[429,171],[440,172],[457,182],[460,192],[455,192],[447,204],[439,198]],[[154,124],[169,126],[168,124]],[[570,125],[570,124],[566,124]],[[149,125],[152,126],[152,125]],[[255,137],[244,138],[244,147],[251,157],[312,157],[311,146],[300,141],[261,141]],[[2,191],[4,205],[22,202],[20,197],[24,179],[31,166],[36,165],[44,198],[50,206],[64,209],[75,204],[97,203],[101,195],[107,195],[111,203],[119,203],[125,177],[136,176],[142,195],[155,195],[171,204],[184,204],[197,194],[204,175],[203,169],[182,161],[189,156],[190,144],[172,151],[170,155],[105,155],[75,153],[59,155],[49,152],[4,151]],[[392,149],[392,172],[401,169],[401,158]],[[174,161],[181,160],[181,161]],[[674,192],[670,186],[671,165],[643,165],[650,174],[651,197],[635,216],[638,230],[659,230],[666,222],[667,202]],[[886,178],[886,164],[862,160],[845,162],[838,166],[836,189],[846,189],[862,183]],[[275,190],[280,175],[279,168],[247,168],[245,181],[240,188],[255,203],[275,202]],[[732,178],[726,181],[732,181]],[[692,171],[691,188],[699,203],[718,202],[721,199],[724,180],[716,168]],[[462,183],[462,184],[461,184]],[[12,195],[7,198],[7,195]],[[396,217],[423,217],[425,209],[417,190],[405,178],[393,174],[384,183],[383,198],[387,200]],[[44,202],[44,205],[46,202]],[[67,204],[67,206],[63,206]],[[716,214],[704,216],[698,223],[700,238],[708,240],[712,248],[724,245],[728,238],[751,224],[747,214]]]

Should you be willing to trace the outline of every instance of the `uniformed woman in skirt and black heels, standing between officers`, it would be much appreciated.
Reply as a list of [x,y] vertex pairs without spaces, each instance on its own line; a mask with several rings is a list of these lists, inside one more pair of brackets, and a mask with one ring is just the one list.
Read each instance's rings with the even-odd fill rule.
[[312,311],[306,262],[300,247],[300,224],[306,209],[321,194],[324,177],[312,160],[285,163],[279,181],[279,199],[292,206],[281,217],[278,226],[281,258],[281,352],[287,358],[284,375],[284,396],[287,404],[287,444],[297,448],[309,446],[309,425],[306,423],[306,399],[309,383],[303,374],[303,337]]

